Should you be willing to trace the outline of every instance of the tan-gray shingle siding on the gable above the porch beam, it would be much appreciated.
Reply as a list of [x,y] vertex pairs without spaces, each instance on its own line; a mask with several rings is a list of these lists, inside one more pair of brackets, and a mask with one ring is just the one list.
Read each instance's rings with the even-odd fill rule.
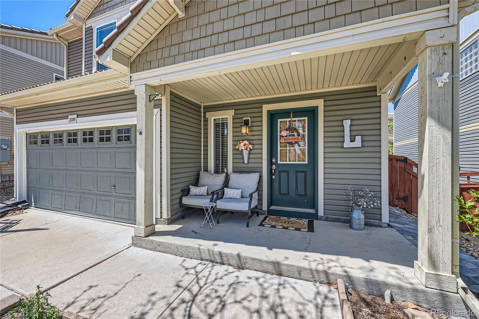
[[186,6],[185,16],[174,18],[134,59],[131,72],[160,68],[445,3],[448,1],[192,0]]

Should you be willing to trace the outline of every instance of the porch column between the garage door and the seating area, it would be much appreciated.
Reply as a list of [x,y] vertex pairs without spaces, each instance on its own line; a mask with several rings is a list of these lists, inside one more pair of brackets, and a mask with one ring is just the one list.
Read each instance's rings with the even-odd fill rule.
[[135,86],[137,95],[137,227],[134,234],[146,237],[155,232],[153,223],[153,100],[155,89]]

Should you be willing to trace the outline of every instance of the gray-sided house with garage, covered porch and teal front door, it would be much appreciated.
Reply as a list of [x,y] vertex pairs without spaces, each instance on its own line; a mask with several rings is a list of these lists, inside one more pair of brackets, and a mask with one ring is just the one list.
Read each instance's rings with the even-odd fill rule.
[[[49,31],[68,44],[68,79],[0,96],[15,110],[16,195],[132,223],[146,237],[180,218],[180,190],[199,171],[259,172],[264,214],[347,221],[351,185],[371,188],[383,205],[366,209],[366,222],[386,226],[388,91],[418,64],[415,271],[426,287],[457,292],[458,81],[439,87],[436,75],[459,72],[458,21],[478,9],[475,0],[76,1]],[[305,143],[281,144],[285,125],[301,125]],[[248,164],[234,150],[245,138]]]

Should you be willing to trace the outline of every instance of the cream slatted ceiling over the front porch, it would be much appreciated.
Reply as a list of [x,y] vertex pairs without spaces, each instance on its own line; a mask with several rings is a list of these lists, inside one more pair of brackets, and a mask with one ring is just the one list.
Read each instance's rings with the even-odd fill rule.
[[407,42],[170,83],[197,101],[212,103],[371,83]]

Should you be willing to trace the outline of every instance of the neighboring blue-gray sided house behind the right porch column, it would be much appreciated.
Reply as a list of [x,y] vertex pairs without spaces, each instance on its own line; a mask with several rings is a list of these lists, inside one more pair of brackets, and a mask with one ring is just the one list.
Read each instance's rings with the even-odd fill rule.
[[[477,25],[476,25],[477,27]],[[479,171],[479,29],[460,47],[459,165],[461,172]],[[418,77],[417,66],[398,82],[389,94],[394,103],[394,154],[418,160]],[[461,178],[463,179],[463,178]],[[471,181],[479,177],[471,176]]]

